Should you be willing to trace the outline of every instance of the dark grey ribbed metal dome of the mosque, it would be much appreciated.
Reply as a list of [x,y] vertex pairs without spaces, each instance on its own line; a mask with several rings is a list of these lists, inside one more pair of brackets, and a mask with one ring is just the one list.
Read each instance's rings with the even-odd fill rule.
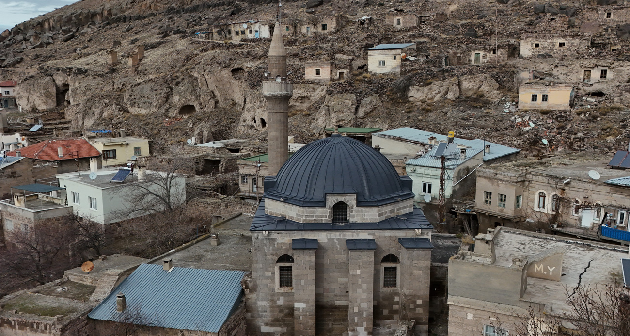
[[275,177],[265,178],[265,197],[297,206],[326,206],[326,194],[356,194],[357,206],[381,206],[413,198],[411,178],[399,176],[383,154],[363,142],[333,134],[297,151]]

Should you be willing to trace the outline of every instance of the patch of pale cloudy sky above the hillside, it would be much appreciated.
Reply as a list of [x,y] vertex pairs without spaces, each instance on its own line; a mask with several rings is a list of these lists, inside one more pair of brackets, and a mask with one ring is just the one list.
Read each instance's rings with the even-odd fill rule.
[[0,32],[76,0],[0,0]]

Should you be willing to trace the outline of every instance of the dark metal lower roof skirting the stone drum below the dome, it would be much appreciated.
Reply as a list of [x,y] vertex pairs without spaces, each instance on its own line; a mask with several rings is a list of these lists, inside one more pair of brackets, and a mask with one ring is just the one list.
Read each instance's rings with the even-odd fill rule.
[[347,230],[410,230],[433,229],[433,226],[418,208],[413,212],[389,217],[377,223],[333,224],[333,223],[299,223],[286,217],[276,217],[265,214],[265,200],[261,200],[256,209],[256,215],[251,221],[249,231],[347,231]]

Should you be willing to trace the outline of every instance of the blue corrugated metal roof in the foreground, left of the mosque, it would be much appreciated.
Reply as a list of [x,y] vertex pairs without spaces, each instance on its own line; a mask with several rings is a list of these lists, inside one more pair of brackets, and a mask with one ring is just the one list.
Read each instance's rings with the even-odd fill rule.
[[206,270],[142,264],[89,313],[117,322],[116,295],[125,294],[128,310],[139,310],[154,327],[219,332],[241,303],[240,270]]

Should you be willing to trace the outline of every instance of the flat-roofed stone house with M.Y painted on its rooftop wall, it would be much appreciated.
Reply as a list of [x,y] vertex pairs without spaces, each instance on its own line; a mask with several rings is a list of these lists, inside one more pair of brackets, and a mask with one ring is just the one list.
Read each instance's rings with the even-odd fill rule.
[[449,259],[449,336],[517,335],[528,310],[541,322],[561,317],[570,310],[566,288],[612,284],[626,256],[619,245],[518,229],[479,233]]

